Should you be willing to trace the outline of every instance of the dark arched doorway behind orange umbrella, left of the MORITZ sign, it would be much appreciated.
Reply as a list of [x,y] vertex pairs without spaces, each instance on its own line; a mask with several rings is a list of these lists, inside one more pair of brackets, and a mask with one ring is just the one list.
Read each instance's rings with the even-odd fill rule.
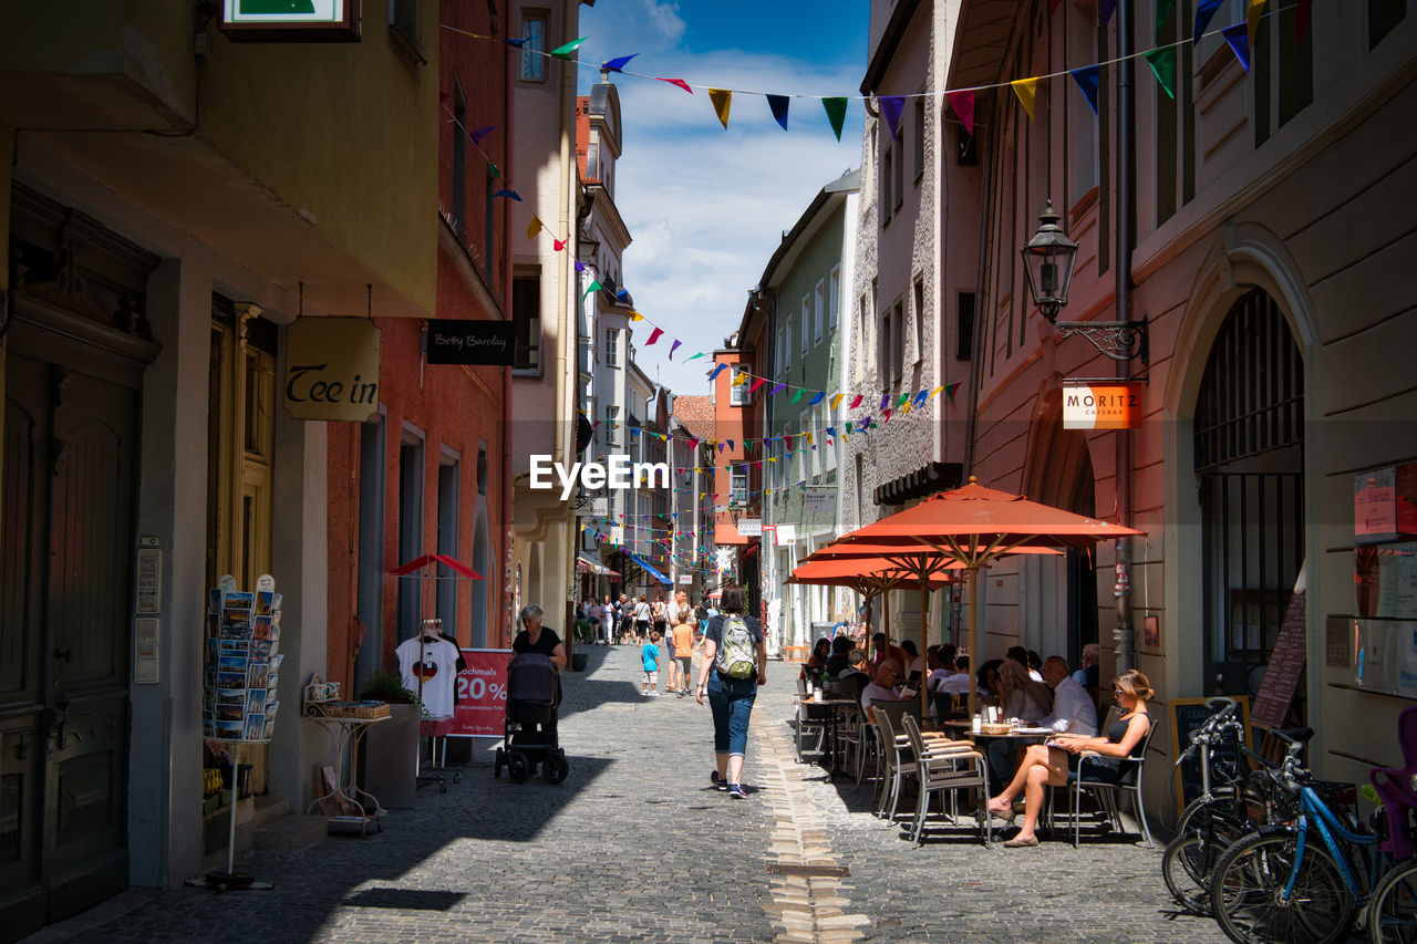
[[[1097,479],[1087,435],[1063,428],[1063,394],[1057,387],[1043,394],[1034,439],[1029,455],[1024,493],[1034,502],[1097,517]],[[1056,558],[1020,558],[1020,567],[1036,601],[1027,605],[1026,645],[1044,656],[1061,655],[1074,668],[1081,665],[1083,646],[1097,642],[1097,568],[1091,553],[1070,549]]]

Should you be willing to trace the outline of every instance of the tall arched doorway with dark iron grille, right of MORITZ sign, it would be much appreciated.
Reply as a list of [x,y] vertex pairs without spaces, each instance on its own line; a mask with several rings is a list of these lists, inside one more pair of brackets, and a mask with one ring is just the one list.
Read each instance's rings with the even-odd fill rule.
[[1212,344],[1193,437],[1204,687],[1254,696],[1304,566],[1304,359],[1263,289]]

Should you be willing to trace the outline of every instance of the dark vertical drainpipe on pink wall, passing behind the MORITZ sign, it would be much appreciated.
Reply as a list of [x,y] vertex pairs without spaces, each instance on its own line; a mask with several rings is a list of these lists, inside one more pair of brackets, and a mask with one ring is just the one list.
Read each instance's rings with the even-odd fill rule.
[[[1135,69],[1132,65],[1132,16],[1129,3],[1117,4],[1117,55],[1121,60],[1117,71],[1117,320],[1132,319],[1132,203],[1135,198],[1132,176],[1135,173],[1136,147],[1132,142],[1132,86]],[[1131,361],[1117,361],[1117,376],[1131,377]],[[1132,523],[1132,434],[1117,431],[1117,516],[1121,524]],[[1117,581],[1112,592],[1117,597],[1117,628],[1112,639],[1117,651],[1117,670],[1127,672],[1136,663],[1136,629],[1132,625],[1132,541],[1129,537],[1117,541]]]

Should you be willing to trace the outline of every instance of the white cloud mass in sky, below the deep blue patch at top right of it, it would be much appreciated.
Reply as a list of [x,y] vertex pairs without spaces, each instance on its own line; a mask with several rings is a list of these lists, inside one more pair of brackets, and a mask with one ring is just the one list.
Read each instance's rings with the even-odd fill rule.
[[[652,329],[640,322],[638,360],[674,393],[703,394],[707,359],[677,364],[711,354],[737,330],[782,232],[825,184],[860,163],[859,102],[839,143],[819,99],[794,98],[784,133],[764,92],[853,96],[860,68],[772,52],[670,50],[683,33],[677,4],[636,6],[646,16],[618,17],[615,48],[587,48],[587,62],[643,51],[628,68],[735,91],[724,130],[703,88],[687,95],[667,82],[614,77],[623,122],[615,203],[632,237],[623,282],[635,308],[666,335],[646,349]],[[672,339],[683,346],[669,361]]]

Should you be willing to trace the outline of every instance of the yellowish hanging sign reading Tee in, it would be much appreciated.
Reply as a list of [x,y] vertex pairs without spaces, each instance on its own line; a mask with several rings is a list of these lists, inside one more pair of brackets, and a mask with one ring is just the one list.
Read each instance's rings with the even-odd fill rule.
[[286,333],[286,412],[370,420],[378,412],[378,325],[367,318],[296,319]]

